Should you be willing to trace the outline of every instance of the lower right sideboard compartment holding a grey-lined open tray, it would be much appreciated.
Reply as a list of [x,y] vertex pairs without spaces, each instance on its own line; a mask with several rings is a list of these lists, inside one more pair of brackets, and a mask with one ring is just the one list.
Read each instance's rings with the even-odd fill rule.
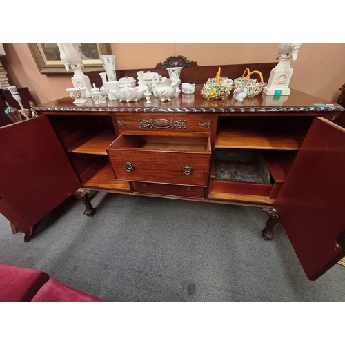
[[273,202],[296,152],[216,148],[210,180],[211,197],[212,193],[221,193],[228,199],[234,195],[248,195],[266,197],[269,203]]

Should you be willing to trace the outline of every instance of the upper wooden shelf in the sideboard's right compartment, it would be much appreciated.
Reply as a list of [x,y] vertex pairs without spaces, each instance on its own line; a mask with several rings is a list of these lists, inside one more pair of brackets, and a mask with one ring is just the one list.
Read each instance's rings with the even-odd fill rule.
[[257,148],[266,150],[298,150],[303,135],[270,133],[255,128],[221,128],[217,132],[215,148]]

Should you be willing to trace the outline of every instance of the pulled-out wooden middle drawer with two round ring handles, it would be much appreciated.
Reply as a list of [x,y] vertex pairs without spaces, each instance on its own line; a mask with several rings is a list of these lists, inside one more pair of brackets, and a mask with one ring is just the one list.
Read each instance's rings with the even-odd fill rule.
[[209,137],[120,135],[107,152],[119,180],[207,185]]

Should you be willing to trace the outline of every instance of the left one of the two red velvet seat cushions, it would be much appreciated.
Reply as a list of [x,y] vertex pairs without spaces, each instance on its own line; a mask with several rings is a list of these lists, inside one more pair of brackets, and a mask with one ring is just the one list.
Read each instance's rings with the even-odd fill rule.
[[48,279],[48,273],[42,270],[0,263],[0,301],[31,301],[43,284],[48,282]]

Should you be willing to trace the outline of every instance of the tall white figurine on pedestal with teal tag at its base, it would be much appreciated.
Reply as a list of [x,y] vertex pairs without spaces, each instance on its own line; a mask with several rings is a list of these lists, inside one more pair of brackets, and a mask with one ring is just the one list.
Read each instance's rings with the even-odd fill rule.
[[290,95],[291,76],[293,75],[293,68],[290,66],[290,59],[293,61],[297,59],[299,48],[302,43],[279,43],[278,54],[276,60],[279,63],[270,72],[270,79],[265,86],[264,92],[268,96],[288,96]]

